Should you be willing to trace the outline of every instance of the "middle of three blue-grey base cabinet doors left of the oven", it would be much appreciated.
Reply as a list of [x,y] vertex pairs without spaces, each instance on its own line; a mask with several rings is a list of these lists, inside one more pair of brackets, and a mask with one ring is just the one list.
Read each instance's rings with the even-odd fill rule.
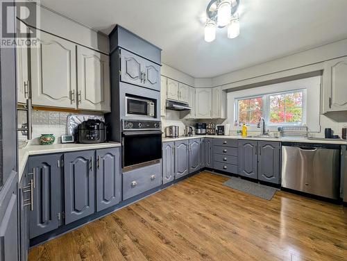
[[94,151],[64,154],[65,224],[95,212]]

